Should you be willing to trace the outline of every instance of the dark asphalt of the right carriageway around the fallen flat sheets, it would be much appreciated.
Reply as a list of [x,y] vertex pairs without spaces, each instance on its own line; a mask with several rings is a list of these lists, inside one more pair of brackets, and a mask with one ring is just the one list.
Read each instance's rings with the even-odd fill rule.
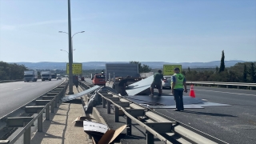
[[[157,111],[228,143],[256,143],[255,90],[196,86],[194,91],[196,98],[231,106],[209,106],[183,112],[173,109]],[[164,90],[164,93],[170,93],[170,90]]]

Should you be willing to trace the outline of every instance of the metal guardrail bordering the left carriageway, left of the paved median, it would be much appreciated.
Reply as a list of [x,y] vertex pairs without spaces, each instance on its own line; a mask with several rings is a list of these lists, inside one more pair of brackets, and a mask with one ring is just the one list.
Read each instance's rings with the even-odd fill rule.
[[40,97],[34,99],[26,105],[17,110],[25,110],[26,114],[36,114],[35,117],[14,117],[14,113],[11,112],[3,118],[1,118],[2,128],[4,127],[22,127],[22,130],[14,136],[13,139],[0,140],[0,143],[13,144],[23,135],[23,143],[31,143],[31,126],[34,126],[34,122],[38,120],[38,132],[42,132],[43,113],[46,113],[46,120],[50,120],[50,113],[54,113],[54,107],[58,107],[57,103],[61,101],[61,98],[65,95],[68,81],[62,82],[61,85],[56,86],[53,90],[50,90],[46,94],[42,94]]

